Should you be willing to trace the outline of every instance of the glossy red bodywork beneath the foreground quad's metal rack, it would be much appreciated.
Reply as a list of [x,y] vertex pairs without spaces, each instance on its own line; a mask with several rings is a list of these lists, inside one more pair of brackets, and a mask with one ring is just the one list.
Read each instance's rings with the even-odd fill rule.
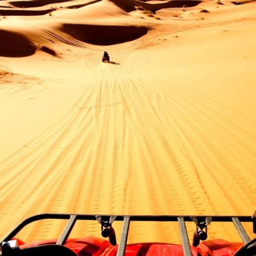
[[[27,244],[18,240],[20,248],[32,247],[42,244],[55,244],[56,239],[37,241]],[[197,247],[191,246],[192,256],[232,256],[243,244],[215,239],[201,242]],[[115,256],[118,246],[109,241],[86,237],[83,239],[68,239],[66,247],[77,253],[78,256]],[[179,244],[142,243],[128,244],[125,256],[183,256],[183,248]]]

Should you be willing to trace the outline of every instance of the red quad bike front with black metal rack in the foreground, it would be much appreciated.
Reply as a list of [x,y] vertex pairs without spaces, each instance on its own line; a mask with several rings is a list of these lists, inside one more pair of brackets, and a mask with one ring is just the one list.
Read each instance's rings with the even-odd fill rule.
[[[42,219],[66,219],[67,224],[58,239],[24,243],[14,236],[27,224]],[[101,235],[108,240],[85,237],[69,238],[77,220],[94,220],[99,223]],[[119,244],[116,243],[114,221],[122,221]],[[127,244],[131,221],[175,221],[179,225],[182,244],[140,243]],[[189,244],[186,222],[194,222],[195,233]],[[207,228],[211,222],[233,222],[242,242],[223,239],[207,240]],[[252,222],[256,233],[256,212],[253,216],[178,216],[178,215],[82,215],[45,213],[21,221],[1,241],[1,256],[254,256],[256,239],[250,239],[241,222]],[[174,234],[176,235],[176,234]],[[203,241],[203,242],[201,242]]]

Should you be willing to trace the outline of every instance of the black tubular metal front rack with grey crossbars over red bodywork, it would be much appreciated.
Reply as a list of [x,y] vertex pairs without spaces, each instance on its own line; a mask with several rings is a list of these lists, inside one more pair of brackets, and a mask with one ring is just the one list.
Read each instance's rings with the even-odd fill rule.
[[197,246],[199,242],[207,239],[207,225],[211,222],[232,222],[236,227],[239,236],[244,244],[249,243],[250,237],[246,233],[241,222],[252,222],[253,232],[256,233],[256,213],[253,216],[178,216],[178,215],[84,215],[84,214],[59,214],[59,213],[44,213],[31,216],[21,221],[13,230],[10,231],[1,241],[11,240],[20,230],[27,224],[43,219],[66,219],[67,224],[56,244],[63,245],[67,241],[71,230],[77,220],[96,220],[101,224],[102,236],[108,237],[111,244],[116,245],[116,236],[112,228],[113,221],[123,221],[122,232],[117,250],[117,256],[125,254],[125,247],[128,238],[128,231],[131,221],[170,221],[178,222],[180,229],[180,237],[183,246],[184,256],[191,256],[191,248],[186,230],[186,222],[194,222],[196,229],[193,237],[193,245]]

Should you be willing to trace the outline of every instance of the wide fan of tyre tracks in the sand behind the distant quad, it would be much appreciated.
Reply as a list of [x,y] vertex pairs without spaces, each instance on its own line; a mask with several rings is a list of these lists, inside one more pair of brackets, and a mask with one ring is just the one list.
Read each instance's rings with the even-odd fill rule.
[[[70,111],[0,162],[3,230],[35,211],[247,214],[256,202],[254,119],[186,86],[103,65],[97,49],[83,67],[93,79]],[[13,209],[18,214],[6,221]],[[53,227],[42,234],[32,227],[25,240],[55,237]],[[225,227],[211,227],[210,235]],[[99,230],[90,223],[74,236]],[[175,232],[175,224],[134,224],[129,242],[171,242]]]

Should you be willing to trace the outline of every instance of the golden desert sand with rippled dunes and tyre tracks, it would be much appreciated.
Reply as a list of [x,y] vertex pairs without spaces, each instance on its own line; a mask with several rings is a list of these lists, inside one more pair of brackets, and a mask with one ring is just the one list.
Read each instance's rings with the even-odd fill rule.
[[[253,214],[255,1],[0,0],[0,15],[1,237],[42,212]],[[143,241],[180,243],[178,226],[132,223]]]

